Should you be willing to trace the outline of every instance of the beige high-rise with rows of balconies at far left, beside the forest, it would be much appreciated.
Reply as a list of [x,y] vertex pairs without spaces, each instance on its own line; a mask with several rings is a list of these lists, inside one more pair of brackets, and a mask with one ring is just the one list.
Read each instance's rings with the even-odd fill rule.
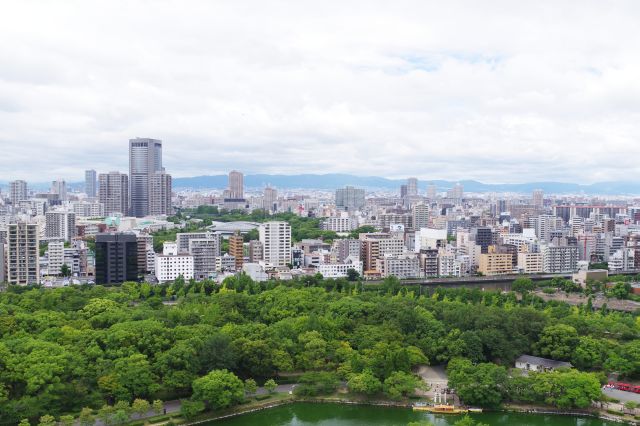
[[7,282],[38,284],[40,238],[36,223],[17,222],[7,228]]

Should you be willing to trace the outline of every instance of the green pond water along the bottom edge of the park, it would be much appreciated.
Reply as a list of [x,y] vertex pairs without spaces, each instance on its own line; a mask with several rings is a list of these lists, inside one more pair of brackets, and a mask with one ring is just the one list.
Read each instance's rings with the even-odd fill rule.
[[[539,414],[482,413],[471,417],[494,425],[522,426],[614,426],[589,417],[552,416]],[[212,426],[406,426],[418,420],[429,420],[436,426],[453,425],[461,416],[433,415],[413,412],[408,408],[384,408],[364,405],[290,404],[251,414],[208,423]]]

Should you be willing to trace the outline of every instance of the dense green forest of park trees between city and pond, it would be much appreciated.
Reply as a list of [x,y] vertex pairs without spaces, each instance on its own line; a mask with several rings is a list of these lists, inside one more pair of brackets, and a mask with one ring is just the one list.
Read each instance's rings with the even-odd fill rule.
[[[136,399],[181,398],[193,413],[215,410],[241,402],[247,379],[262,385],[285,372],[302,373],[301,396],[345,382],[354,393],[397,399],[420,385],[416,365],[448,363],[469,404],[558,407],[597,399],[604,372],[640,376],[636,315],[527,292],[414,290],[394,278],[365,289],[244,275],[222,286],[11,287],[0,293],[0,423]],[[581,371],[509,373],[524,353]]]

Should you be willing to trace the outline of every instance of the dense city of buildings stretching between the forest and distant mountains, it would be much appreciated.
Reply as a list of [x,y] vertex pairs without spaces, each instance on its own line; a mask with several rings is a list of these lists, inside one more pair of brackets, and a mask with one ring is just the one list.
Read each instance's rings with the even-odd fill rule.
[[[83,190],[14,180],[0,194],[0,282],[365,280],[571,275],[640,269],[632,198],[466,194],[408,178],[396,193],[175,189],[162,142],[129,141],[129,172],[85,172]],[[295,219],[295,220],[293,220]],[[299,220],[298,220],[299,219]],[[297,229],[303,227],[304,229]]]

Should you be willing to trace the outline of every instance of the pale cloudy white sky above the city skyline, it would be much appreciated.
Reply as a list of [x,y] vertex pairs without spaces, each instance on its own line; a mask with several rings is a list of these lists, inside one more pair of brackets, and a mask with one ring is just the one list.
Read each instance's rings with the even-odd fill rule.
[[0,181],[640,177],[638,1],[0,5]]

